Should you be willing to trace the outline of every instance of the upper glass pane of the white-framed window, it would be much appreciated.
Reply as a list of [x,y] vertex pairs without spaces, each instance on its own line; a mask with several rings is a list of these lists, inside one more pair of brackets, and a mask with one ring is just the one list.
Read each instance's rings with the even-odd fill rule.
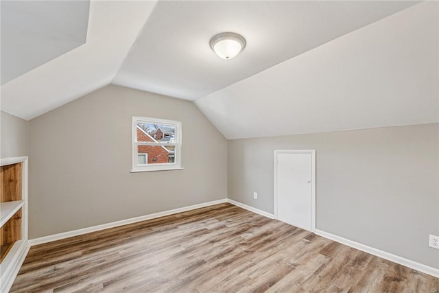
[[148,124],[138,122],[139,126],[143,130],[143,135],[137,133],[137,141],[151,141],[161,143],[175,143],[176,126],[171,124]]

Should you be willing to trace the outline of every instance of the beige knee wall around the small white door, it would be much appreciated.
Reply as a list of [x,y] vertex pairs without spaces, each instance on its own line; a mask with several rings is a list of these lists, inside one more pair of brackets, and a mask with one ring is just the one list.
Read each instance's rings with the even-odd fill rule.
[[[316,227],[439,268],[438,124],[228,142],[228,198],[273,213],[274,150],[316,150]],[[253,191],[258,199],[252,198]]]

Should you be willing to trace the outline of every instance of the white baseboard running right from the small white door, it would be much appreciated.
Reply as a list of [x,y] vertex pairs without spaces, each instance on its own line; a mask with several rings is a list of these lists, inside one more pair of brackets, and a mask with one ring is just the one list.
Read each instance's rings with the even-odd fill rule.
[[317,235],[322,237],[331,239],[335,242],[339,242],[341,244],[351,246],[358,250],[364,251],[365,253],[370,253],[371,255],[375,255],[377,257],[381,257],[383,259],[387,259],[388,261],[393,261],[394,263],[399,263],[402,266],[406,266],[407,268],[412,268],[414,270],[418,270],[420,272],[425,272],[425,274],[430,274],[433,277],[439,278],[439,269],[433,268],[431,266],[426,266],[422,263],[418,263],[416,261],[411,261],[410,259],[405,259],[404,257],[399,257],[398,255],[392,255],[392,253],[387,253],[383,250],[379,250],[377,248],[373,248],[358,242],[354,242],[352,240],[333,235],[331,233],[324,232],[322,230],[316,229],[314,232]]

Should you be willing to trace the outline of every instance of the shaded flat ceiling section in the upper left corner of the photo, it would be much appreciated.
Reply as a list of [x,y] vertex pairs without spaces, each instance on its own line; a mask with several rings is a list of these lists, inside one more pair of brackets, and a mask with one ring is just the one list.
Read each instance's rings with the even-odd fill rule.
[[90,1],[1,1],[1,84],[85,44]]

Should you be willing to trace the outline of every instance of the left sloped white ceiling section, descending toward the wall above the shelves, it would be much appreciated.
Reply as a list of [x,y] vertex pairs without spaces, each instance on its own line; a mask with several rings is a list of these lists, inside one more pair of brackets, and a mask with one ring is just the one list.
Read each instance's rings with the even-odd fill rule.
[[110,84],[155,4],[91,1],[86,44],[3,84],[1,110],[29,120]]

